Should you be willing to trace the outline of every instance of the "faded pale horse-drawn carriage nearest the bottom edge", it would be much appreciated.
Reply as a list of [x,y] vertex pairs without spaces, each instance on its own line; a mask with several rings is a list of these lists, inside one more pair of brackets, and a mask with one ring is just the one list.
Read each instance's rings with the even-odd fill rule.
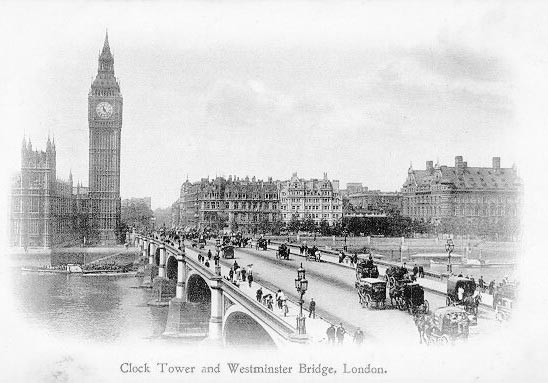
[[432,314],[430,329],[425,333],[430,342],[446,344],[467,339],[470,328],[468,313],[461,307],[440,307]]

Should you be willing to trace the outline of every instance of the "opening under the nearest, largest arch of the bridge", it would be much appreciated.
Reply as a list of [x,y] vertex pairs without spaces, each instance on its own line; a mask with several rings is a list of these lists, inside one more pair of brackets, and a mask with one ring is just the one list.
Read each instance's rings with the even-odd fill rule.
[[225,343],[232,347],[276,348],[272,337],[255,319],[236,311],[226,318]]

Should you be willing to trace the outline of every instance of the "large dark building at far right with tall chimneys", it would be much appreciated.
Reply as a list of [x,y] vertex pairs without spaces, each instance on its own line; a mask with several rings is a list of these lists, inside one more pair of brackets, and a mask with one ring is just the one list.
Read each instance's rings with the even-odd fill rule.
[[462,156],[455,166],[412,167],[402,187],[402,215],[434,224],[454,223],[478,233],[499,232],[504,221],[519,217],[522,183],[515,167],[469,167]]

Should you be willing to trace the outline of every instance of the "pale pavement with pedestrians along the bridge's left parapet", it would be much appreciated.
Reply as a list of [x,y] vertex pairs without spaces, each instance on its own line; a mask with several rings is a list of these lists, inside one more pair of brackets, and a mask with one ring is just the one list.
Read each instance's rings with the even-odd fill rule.
[[[186,249],[190,250],[186,252],[187,256],[195,253],[195,255],[193,254],[192,256],[195,257],[196,260],[198,259],[198,256],[197,256],[198,252],[200,252],[201,254],[205,256],[205,258],[207,258],[208,249],[211,250],[211,253],[213,256],[215,255],[215,247],[211,245],[207,245],[205,249],[201,249],[201,250],[197,248],[189,247],[189,246],[187,246]],[[230,267],[227,267],[223,265],[222,263],[223,262],[221,262],[221,275],[223,276],[223,278],[225,277],[228,278],[228,272],[230,270]],[[248,265],[239,265],[239,266],[247,267]],[[212,270],[214,270],[215,268],[213,257],[210,261],[210,268]],[[269,289],[255,281],[253,281],[251,287],[249,287],[249,283],[247,281],[246,282],[238,281],[238,282],[239,283],[237,285],[239,289],[243,291],[246,295],[252,297],[253,299],[256,299],[256,293],[259,287],[261,287],[263,290],[263,296],[272,294],[272,297],[274,299],[272,311],[274,312],[274,314],[276,314],[279,318],[283,319],[286,323],[291,325],[291,327],[297,328],[297,317],[300,311],[300,306],[297,304],[297,302],[294,302],[289,298],[287,299],[288,313],[286,316],[284,316],[283,309],[278,308],[277,302],[275,300],[277,290],[275,291],[275,289]],[[310,337],[310,343],[327,345],[326,330],[331,325],[331,323],[329,323],[328,321],[326,321],[319,315],[316,315],[315,319],[309,318],[308,317],[309,312],[308,310],[305,309],[304,306],[303,306],[303,315],[306,317],[306,333]],[[346,334],[343,343],[344,344],[352,343],[352,335],[353,334]]]

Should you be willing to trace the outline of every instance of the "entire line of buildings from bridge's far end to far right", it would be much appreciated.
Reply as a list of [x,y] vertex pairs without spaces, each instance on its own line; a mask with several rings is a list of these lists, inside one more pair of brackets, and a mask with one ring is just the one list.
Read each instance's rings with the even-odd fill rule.
[[181,187],[172,206],[172,224],[177,227],[238,229],[254,232],[261,223],[312,219],[329,225],[345,217],[383,217],[400,214],[439,225],[458,222],[495,230],[507,219],[517,219],[521,209],[522,183],[515,167],[502,168],[494,157],[489,167],[469,167],[462,156],[455,166],[426,161],[424,170],[408,169],[398,192],[369,190],[361,183],[302,179],[256,180],[255,177],[217,177]]

